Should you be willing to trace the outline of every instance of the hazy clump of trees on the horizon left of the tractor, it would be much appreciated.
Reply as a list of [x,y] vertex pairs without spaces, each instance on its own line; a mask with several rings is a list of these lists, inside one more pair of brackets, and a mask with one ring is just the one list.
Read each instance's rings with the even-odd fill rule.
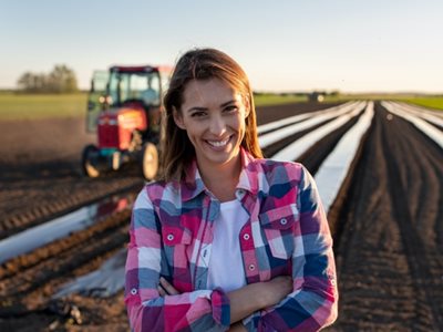
[[17,87],[24,93],[73,93],[78,92],[78,81],[73,70],[56,64],[45,73],[23,73],[17,81]]

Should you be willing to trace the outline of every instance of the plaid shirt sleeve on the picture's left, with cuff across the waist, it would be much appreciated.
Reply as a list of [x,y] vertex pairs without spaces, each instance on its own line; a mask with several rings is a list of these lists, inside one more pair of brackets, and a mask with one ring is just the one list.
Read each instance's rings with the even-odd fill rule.
[[226,331],[229,299],[222,289],[159,297],[165,266],[159,221],[143,189],[133,208],[125,267],[125,303],[132,331]]

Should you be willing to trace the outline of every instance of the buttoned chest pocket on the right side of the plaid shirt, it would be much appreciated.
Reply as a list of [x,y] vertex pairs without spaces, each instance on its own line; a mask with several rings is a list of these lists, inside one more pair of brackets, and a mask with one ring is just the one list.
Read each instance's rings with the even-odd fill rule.
[[300,221],[295,204],[260,214],[260,224],[269,250],[275,258],[289,259],[293,252],[293,230]]

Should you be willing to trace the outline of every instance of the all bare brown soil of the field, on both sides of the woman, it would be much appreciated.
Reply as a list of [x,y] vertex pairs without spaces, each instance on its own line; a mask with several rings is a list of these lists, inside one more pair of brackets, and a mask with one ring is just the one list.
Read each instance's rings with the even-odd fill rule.
[[[259,124],[331,105],[258,110]],[[354,120],[356,121],[356,120]],[[352,123],[301,157],[316,173]],[[115,191],[137,193],[137,172],[81,176],[83,121],[0,123],[0,239]],[[292,137],[292,139],[296,137]],[[271,155],[287,142],[269,146]],[[443,152],[401,118],[375,117],[329,214],[339,271],[330,331],[443,329]],[[127,331],[123,293],[51,301],[62,283],[96,269],[127,241],[130,211],[0,266],[0,331]]]

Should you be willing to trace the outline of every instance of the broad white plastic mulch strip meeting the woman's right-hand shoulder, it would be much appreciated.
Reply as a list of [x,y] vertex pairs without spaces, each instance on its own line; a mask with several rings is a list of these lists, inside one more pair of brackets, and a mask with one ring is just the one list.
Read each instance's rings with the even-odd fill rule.
[[371,126],[374,115],[373,103],[370,102],[356,125],[352,126],[328,155],[317,172],[315,179],[319,188],[320,197],[326,211],[329,211],[332,203],[354,159],[357,149],[364,133]]

